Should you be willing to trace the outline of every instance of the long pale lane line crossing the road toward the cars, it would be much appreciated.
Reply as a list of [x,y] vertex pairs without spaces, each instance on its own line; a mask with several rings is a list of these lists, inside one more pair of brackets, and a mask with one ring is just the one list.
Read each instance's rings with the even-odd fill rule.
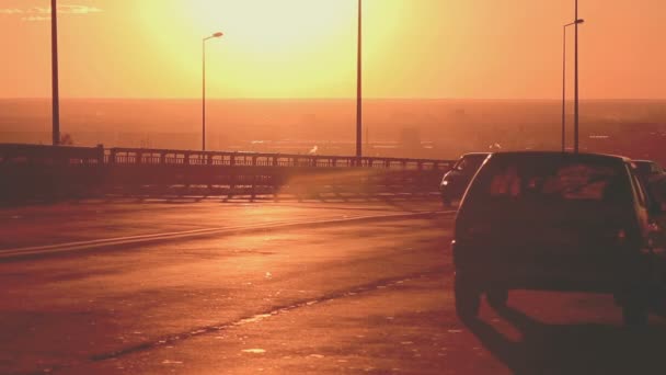
[[257,230],[257,229],[280,229],[280,228],[289,228],[289,227],[298,227],[298,226],[312,226],[312,225],[323,225],[323,224],[344,224],[344,223],[372,220],[372,219],[409,218],[409,217],[420,217],[420,216],[443,215],[443,214],[450,214],[450,213],[455,213],[455,212],[428,211],[428,212],[421,212],[421,213],[366,215],[366,216],[354,216],[354,217],[333,218],[333,219],[329,218],[329,219],[308,220],[308,221],[275,221],[275,223],[245,225],[245,226],[237,226],[237,227],[203,228],[203,229],[191,229],[191,230],[152,234],[152,235],[124,236],[124,237],[114,237],[114,238],[105,238],[105,239],[96,239],[96,240],[88,240],[88,241],[74,241],[74,242],[66,242],[66,243],[57,243],[57,245],[5,249],[5,250],[0,250],[0,259],[21,257],[21,255],[38,255],[38,254],[47,254],[47,253],[57,253],[57,252],[65,252],[65,251],[90,250],[90,249],[97,249],[97,248],[108,247],[108,246],[134,245],[134,243],[163,241],[163,240],[171,240],[171,239],[184,239],[184,238],[192,238],[192,237],[198,237],[198,236],[232,234],[232,232],[242,232],[242,231]]

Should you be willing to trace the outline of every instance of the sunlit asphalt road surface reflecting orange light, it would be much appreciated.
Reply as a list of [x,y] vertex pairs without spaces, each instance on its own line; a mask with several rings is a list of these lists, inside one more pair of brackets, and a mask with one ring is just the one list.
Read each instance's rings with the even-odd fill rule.
[[452,306],[436,201],[0,209],[2,374],[664,374],[605,295]]

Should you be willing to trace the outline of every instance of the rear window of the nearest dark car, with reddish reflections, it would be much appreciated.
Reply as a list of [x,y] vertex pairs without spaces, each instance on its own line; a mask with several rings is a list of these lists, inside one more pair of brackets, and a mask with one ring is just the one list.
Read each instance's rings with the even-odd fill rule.
[[555,200],[613,202],[627,197],[621,163],[570,158],[492,160],[478,177],[471,200]]

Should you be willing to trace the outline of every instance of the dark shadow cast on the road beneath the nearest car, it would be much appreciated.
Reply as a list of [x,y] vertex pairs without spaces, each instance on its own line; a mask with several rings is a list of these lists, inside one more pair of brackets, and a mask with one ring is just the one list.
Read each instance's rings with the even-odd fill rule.
[[666,374],[666,327],[548,325],[509,307],[497,314],[520,331],[520,341],[481,320],[466,325],[516,374]]

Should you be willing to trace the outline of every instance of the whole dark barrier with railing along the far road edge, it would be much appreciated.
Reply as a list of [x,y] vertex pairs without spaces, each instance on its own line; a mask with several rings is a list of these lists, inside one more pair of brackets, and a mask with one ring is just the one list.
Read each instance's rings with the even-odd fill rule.
[[[0,144],[0,202],[104,194],[432,193],[452,161]],[[263,194],[263,193],[262,193]]]

